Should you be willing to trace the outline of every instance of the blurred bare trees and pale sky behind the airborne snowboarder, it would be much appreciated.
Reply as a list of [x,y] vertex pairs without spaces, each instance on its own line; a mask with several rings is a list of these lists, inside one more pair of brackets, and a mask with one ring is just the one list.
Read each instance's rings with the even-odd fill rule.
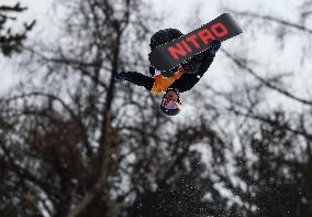
[[1,58],[21,78],[0,96],[0,216],[311,217],[312,1],[296,2],[220,4],[244,34],[168,118],[111,74],[147,73],[166,9],[56,0],[38,31],[19,20],[30,8],[0,1]]

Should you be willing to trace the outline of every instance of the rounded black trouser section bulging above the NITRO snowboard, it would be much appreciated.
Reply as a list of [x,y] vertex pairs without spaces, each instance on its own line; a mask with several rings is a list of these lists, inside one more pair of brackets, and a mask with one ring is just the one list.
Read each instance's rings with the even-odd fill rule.
[[159,45],[166,44],[167,42],[171,42],[175,39],[178,39],[183,34],[177,29],[159,30],[151,37],[151,43],[149,43],[151,51],[153,51]]

